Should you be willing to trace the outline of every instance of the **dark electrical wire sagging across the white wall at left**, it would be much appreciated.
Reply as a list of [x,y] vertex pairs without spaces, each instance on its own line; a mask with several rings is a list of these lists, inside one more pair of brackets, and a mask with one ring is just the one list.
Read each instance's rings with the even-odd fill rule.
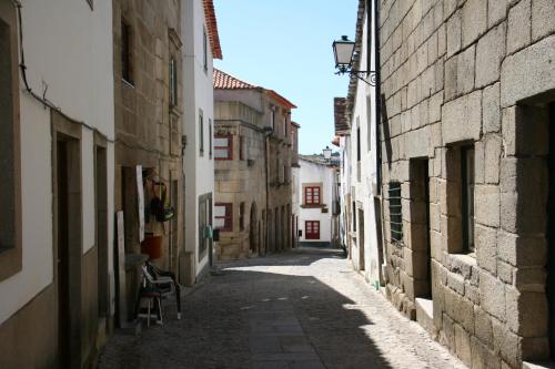
[[27,80],[27,64],[26,64],[26,53],[23,49],[23,21],[22,21],[22,16],[21,16],[21,9],[23,6],[21,4],[21,1],[19,0],[12,0],[12,4],[16,8],[18,12],[18,33],[19,33],[19,52],[20,52],[20,62],[19,62],[19,69],[21,71],[21,79],[23,80],[23,84],[26,88],[26,92],[34,98],[37,101],[42,103],[44,105],[44,109],[50,107],[51,110],[54,110],[58,112],[60,115],[62,115],[64,119],[75,123],[80,124],[90,131],[97,132],[98,134],[102,135],[108,142],[114,143],[114,140],[109,139],[104,133],[100,132],[97,127],[93,127],[92,125],[87,124],[83,121],[75,120],[68,114],[65,114],[61,107],[57,106],[53,102],[47,99],[47,92],[48,92],[48,84],[44,83],[44,91],[42,92],[42,96],[37,94],[31,86],[29,85],[29,82]]

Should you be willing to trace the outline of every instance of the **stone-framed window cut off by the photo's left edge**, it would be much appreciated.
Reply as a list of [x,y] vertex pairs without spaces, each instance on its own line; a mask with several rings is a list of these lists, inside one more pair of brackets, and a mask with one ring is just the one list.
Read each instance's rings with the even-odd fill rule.
[[0,281],[21,270],[18,22],[11,1],[0,1]]

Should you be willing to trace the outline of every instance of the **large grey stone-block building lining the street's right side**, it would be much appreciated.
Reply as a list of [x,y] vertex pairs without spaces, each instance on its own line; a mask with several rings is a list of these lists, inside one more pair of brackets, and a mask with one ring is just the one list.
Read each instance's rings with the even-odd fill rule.
[[387,297],[472,368],[553,358],[555,2],[379,14]]

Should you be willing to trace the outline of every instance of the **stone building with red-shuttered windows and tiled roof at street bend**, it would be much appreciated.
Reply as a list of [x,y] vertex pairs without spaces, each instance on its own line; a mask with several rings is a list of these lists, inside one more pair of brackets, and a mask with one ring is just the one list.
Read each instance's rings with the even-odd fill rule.
[[[214,70],[214,228],[235,258],[292,244],[291,109],[272,90]],[[295,131],[296,132],[296,131]]]

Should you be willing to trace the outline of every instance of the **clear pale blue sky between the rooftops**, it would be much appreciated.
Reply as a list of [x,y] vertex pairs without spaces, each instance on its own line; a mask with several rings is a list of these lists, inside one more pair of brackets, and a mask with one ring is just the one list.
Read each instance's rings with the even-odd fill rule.
[[332,42],[354,38],[357,0],[215,0],[223,60],[215,66],[293,102],[299,151],[321,153],[333,139],[333,98],[347,76],[334,74]]

